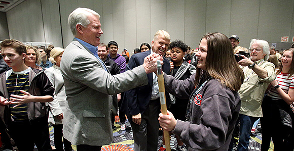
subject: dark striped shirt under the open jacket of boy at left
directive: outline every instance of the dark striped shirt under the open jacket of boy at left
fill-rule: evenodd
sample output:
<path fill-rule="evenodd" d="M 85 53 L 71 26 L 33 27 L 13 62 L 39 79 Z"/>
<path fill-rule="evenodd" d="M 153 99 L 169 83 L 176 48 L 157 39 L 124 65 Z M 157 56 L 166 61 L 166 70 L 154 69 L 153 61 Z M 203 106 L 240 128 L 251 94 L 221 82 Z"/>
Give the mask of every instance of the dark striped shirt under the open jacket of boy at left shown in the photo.
<path fill-rule="evenodd" d="M 29 68 L 30 69 L 30 68 Z M 15 73 L 8 72 L 6 79 L 6 86 L 9 92 L 9 95 L 24 95 L 20 92 L 20 90 L 28 91 L 29 88 L 29 80 L 27 70 L 25 73 Z M 20 105 L 18 107 L 13 108 L 17 104 L 9 105 L 11 110 L 11 116 L 15 120 L 15 122 L 22 122 L 28 119 L 27 116 L 27 104 Z"/>

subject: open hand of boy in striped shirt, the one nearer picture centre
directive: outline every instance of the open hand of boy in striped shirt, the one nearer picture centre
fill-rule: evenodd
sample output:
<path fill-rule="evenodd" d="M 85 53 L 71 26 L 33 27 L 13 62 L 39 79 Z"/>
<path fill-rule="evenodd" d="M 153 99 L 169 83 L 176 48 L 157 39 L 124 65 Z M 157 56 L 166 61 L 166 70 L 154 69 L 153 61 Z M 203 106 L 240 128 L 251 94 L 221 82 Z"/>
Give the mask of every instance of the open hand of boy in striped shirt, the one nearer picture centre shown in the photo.
<path fill-rule="evenodd" d="M 14 108 L 22 104 L 33 102 L 35 100 L 35 96 L 31 95 L 29 92 L 26 92 L 24 90 L 20 90 L 20 92 L 22 92 L 24 95 L 14 95 L 14 94 L 10 95 L 11 96 L 10 104 L 18 104 L 14 106 Z"/>

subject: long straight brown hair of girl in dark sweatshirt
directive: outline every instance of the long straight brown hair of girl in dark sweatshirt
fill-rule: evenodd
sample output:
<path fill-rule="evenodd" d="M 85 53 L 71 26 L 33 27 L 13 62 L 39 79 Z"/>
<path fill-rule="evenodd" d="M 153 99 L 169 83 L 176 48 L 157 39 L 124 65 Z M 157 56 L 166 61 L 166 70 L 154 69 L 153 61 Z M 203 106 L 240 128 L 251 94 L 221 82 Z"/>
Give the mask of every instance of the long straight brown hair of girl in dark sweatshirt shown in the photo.
<path fill-rule="evenodd" d="M 218 79 L 233 91 L 238 91 L 244 80 L 243 70 L 238 66 L 229 38 L 222 33 L 207 33 L 201 40 L 207 40 L 206 71 L 197 67 L 195 84 L 199 84 L 201 74 Z"/>

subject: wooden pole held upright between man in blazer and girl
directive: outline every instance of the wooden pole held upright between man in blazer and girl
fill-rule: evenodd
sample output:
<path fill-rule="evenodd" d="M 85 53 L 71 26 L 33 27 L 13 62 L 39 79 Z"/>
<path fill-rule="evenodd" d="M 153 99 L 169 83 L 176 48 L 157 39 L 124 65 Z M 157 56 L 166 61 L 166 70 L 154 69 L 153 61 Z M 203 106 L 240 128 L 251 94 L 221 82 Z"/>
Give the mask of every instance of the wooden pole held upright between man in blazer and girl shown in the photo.
<path fill-rule="evenodd" d="M 157 77 L 158 77 L 158 87 L 159 87 L 159 97 L 160 97 L 160 106 L 161 113 L 163 115 L 167 115 L 166 109 L 166 99 L 165 99 L 165 88 L 164 88 L 164 78 L 162 73 L 162 66 L 160 61 L 157 61 Z M 165 149 L 166 151 L 170 151 L 170 142 L 169 142 L 169 132 L 167 130 L 163 130 L 164 140 L 165 140 Z"/>

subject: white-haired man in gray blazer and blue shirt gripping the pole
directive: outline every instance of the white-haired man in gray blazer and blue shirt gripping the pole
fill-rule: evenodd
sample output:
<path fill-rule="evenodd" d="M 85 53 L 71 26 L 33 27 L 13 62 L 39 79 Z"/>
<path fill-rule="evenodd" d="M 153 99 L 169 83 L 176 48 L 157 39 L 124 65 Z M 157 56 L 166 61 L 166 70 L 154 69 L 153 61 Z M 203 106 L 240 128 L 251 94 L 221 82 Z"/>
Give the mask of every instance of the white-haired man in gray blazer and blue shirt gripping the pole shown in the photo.
<path fill-rule="evenodd" d="M 78 151 L 100 150 L 113 141 L 111 95 L 148 84 L 146 74 L 157 70 L 160 57 L 152 54 L 142 66 L 112 76 L 97 55 L 103 34 L 99 14 L 78 8 L 69 14 L 68 23 L 75 38 L 65 48 L 60 64 L 68 103 L 64 137 Z"/>

